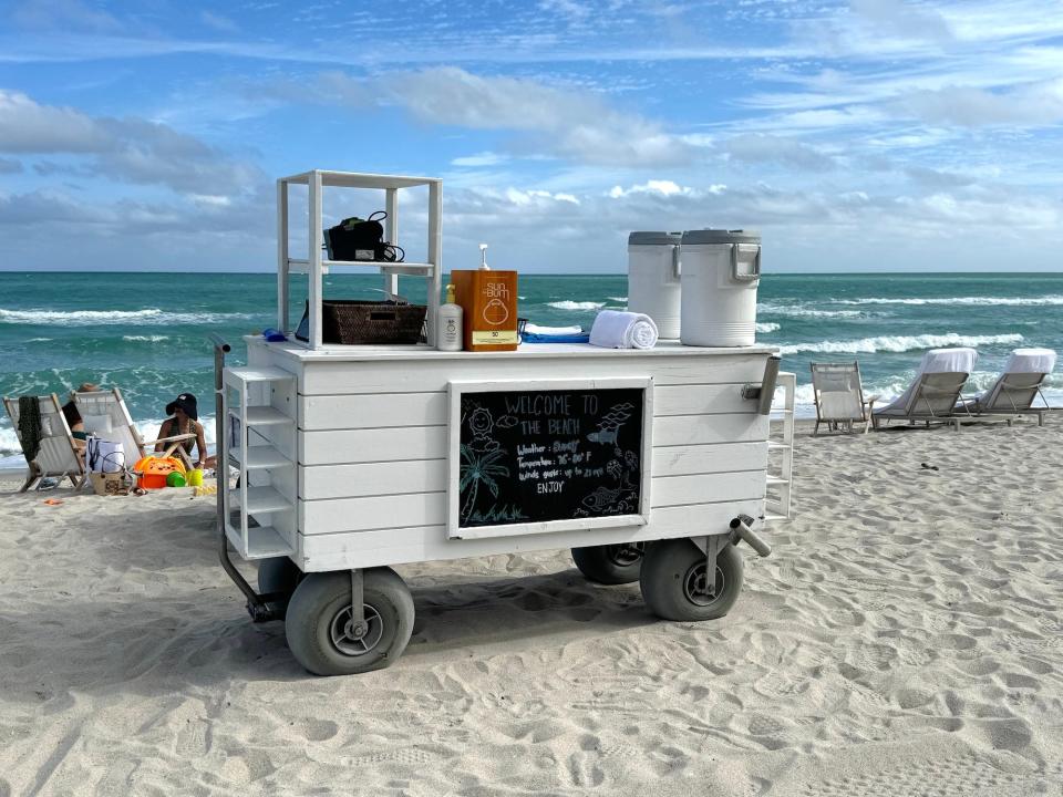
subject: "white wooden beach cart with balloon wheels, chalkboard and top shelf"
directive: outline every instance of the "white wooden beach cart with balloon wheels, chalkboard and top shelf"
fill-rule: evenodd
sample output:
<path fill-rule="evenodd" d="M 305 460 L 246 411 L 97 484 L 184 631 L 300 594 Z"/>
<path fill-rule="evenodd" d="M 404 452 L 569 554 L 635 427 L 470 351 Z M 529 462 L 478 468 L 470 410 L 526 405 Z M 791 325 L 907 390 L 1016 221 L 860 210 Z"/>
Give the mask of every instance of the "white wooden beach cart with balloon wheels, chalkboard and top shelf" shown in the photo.
<path fill-rule="evenodd" d="M 287 190 L 309 186 L 309 252 L 289 258 Z M 772 346 L 647 351 L 581 344 L 516 352 L 326 345 L 320 338 L 321 187 L 431 192 L 429 280 L 438 304 L 438 180 L 311 172 L 279 182 L 278 324 L 288 280 L 310 280 L 308 343 L 247 338 L 247 365 L 216 341 L 221 561 L 256 621 L 285 619 L 313 673 L 386 666 L 409 642 L 413 601 L 391 566 L 570 548 L 602 583 L 639 581 L 671 620 L 726 614 L 742 587 L 735 546 L 789 515 L 793 374 Z M 394 292 L 395 266 L 371 263 Z M 431 329 L 431 325 L 430 325 Z M 776 385 L 785 402 L 774 418 Z M 781 427 L 773 431 L 773 420 Z M 260 560 L 258 591 L 229 546 Z"/>

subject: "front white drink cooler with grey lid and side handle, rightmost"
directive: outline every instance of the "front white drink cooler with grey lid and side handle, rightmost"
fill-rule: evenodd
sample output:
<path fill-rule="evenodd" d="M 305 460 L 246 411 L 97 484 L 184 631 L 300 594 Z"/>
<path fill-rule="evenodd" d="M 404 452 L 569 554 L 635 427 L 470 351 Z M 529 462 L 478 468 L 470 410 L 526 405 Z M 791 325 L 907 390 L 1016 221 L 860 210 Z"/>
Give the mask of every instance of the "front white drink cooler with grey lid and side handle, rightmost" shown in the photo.
<path fill-rule="evenodd" d="M 685 345 L 756 342 L 761 234 L 688 230 L 682 238 L 682 329 Z M 662 335 L 663 337 L 663 335 Z"/>

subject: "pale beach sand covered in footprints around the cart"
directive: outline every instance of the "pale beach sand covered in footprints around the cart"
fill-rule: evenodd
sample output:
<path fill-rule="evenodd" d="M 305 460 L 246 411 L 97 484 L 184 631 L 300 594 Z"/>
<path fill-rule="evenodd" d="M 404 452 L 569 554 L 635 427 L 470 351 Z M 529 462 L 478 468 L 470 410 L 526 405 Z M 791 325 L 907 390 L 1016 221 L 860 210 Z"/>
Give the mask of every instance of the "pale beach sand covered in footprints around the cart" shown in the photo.
<path fill-rule="evenodd" d="M 725 619 L 567 551 L 407 566 L 405 654 L 337 679 L 250 622 L 213 498 L 6 484 L 0 796 L 1063 795 L 1061 418 L 807 432 Z"/>

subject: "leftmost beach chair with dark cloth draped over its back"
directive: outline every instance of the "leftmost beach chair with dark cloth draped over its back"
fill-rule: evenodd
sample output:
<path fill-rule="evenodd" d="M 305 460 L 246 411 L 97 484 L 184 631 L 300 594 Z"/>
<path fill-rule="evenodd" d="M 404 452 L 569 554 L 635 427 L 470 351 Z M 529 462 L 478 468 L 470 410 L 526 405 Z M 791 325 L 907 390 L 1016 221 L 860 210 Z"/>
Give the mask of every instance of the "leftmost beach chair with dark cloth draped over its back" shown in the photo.
<path fill-rule="evenodd" d="M 35 411 L 40 415 L 40 424 L 34 429 L 22 427 L 19 421 L 22 418 L 22 411 L 34 410 L 31 402 L 37 402 Z M 62 405 L 59 403 L 59 396 L 54 393 L 44 396 L 22 396 L 21 398 L 3 397 L 3 406 L 8 411 L 8 416 L 14 425 L 14 432 L 18 435 L 19 444 L 22 446 L 22 453 L 29 464 L 30 473 L 25 482 L 19 488 L 19 493 L 25 493 L 30 487 L 40 488 L 41 482 L 45 478 L 58 477 L 60 483 L 69 478 L 75 490 L 85 486 L 85 466 L 81 456 L 78 455 L 78 446 L 74 443 L 74 436 L 70 433 L 70 426 L 63 416 Z M 24 418 L 29 421 L 29 418 Z M 35 451 L 34 451 L 35 449 Z"/>

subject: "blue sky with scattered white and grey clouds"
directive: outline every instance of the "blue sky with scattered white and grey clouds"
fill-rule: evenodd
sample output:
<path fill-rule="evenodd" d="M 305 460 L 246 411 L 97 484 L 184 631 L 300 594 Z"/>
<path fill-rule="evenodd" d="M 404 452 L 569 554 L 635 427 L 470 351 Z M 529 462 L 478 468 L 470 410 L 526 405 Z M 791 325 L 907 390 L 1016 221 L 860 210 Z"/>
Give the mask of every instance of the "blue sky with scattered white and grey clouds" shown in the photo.
<path fill-rule="evenodd" d="M 447 270 L 1059 270 L 1061 123 L 1059 0 L 0 0 L 0 270 L 274 270 L 312 168 L 441 177 Z"/>

